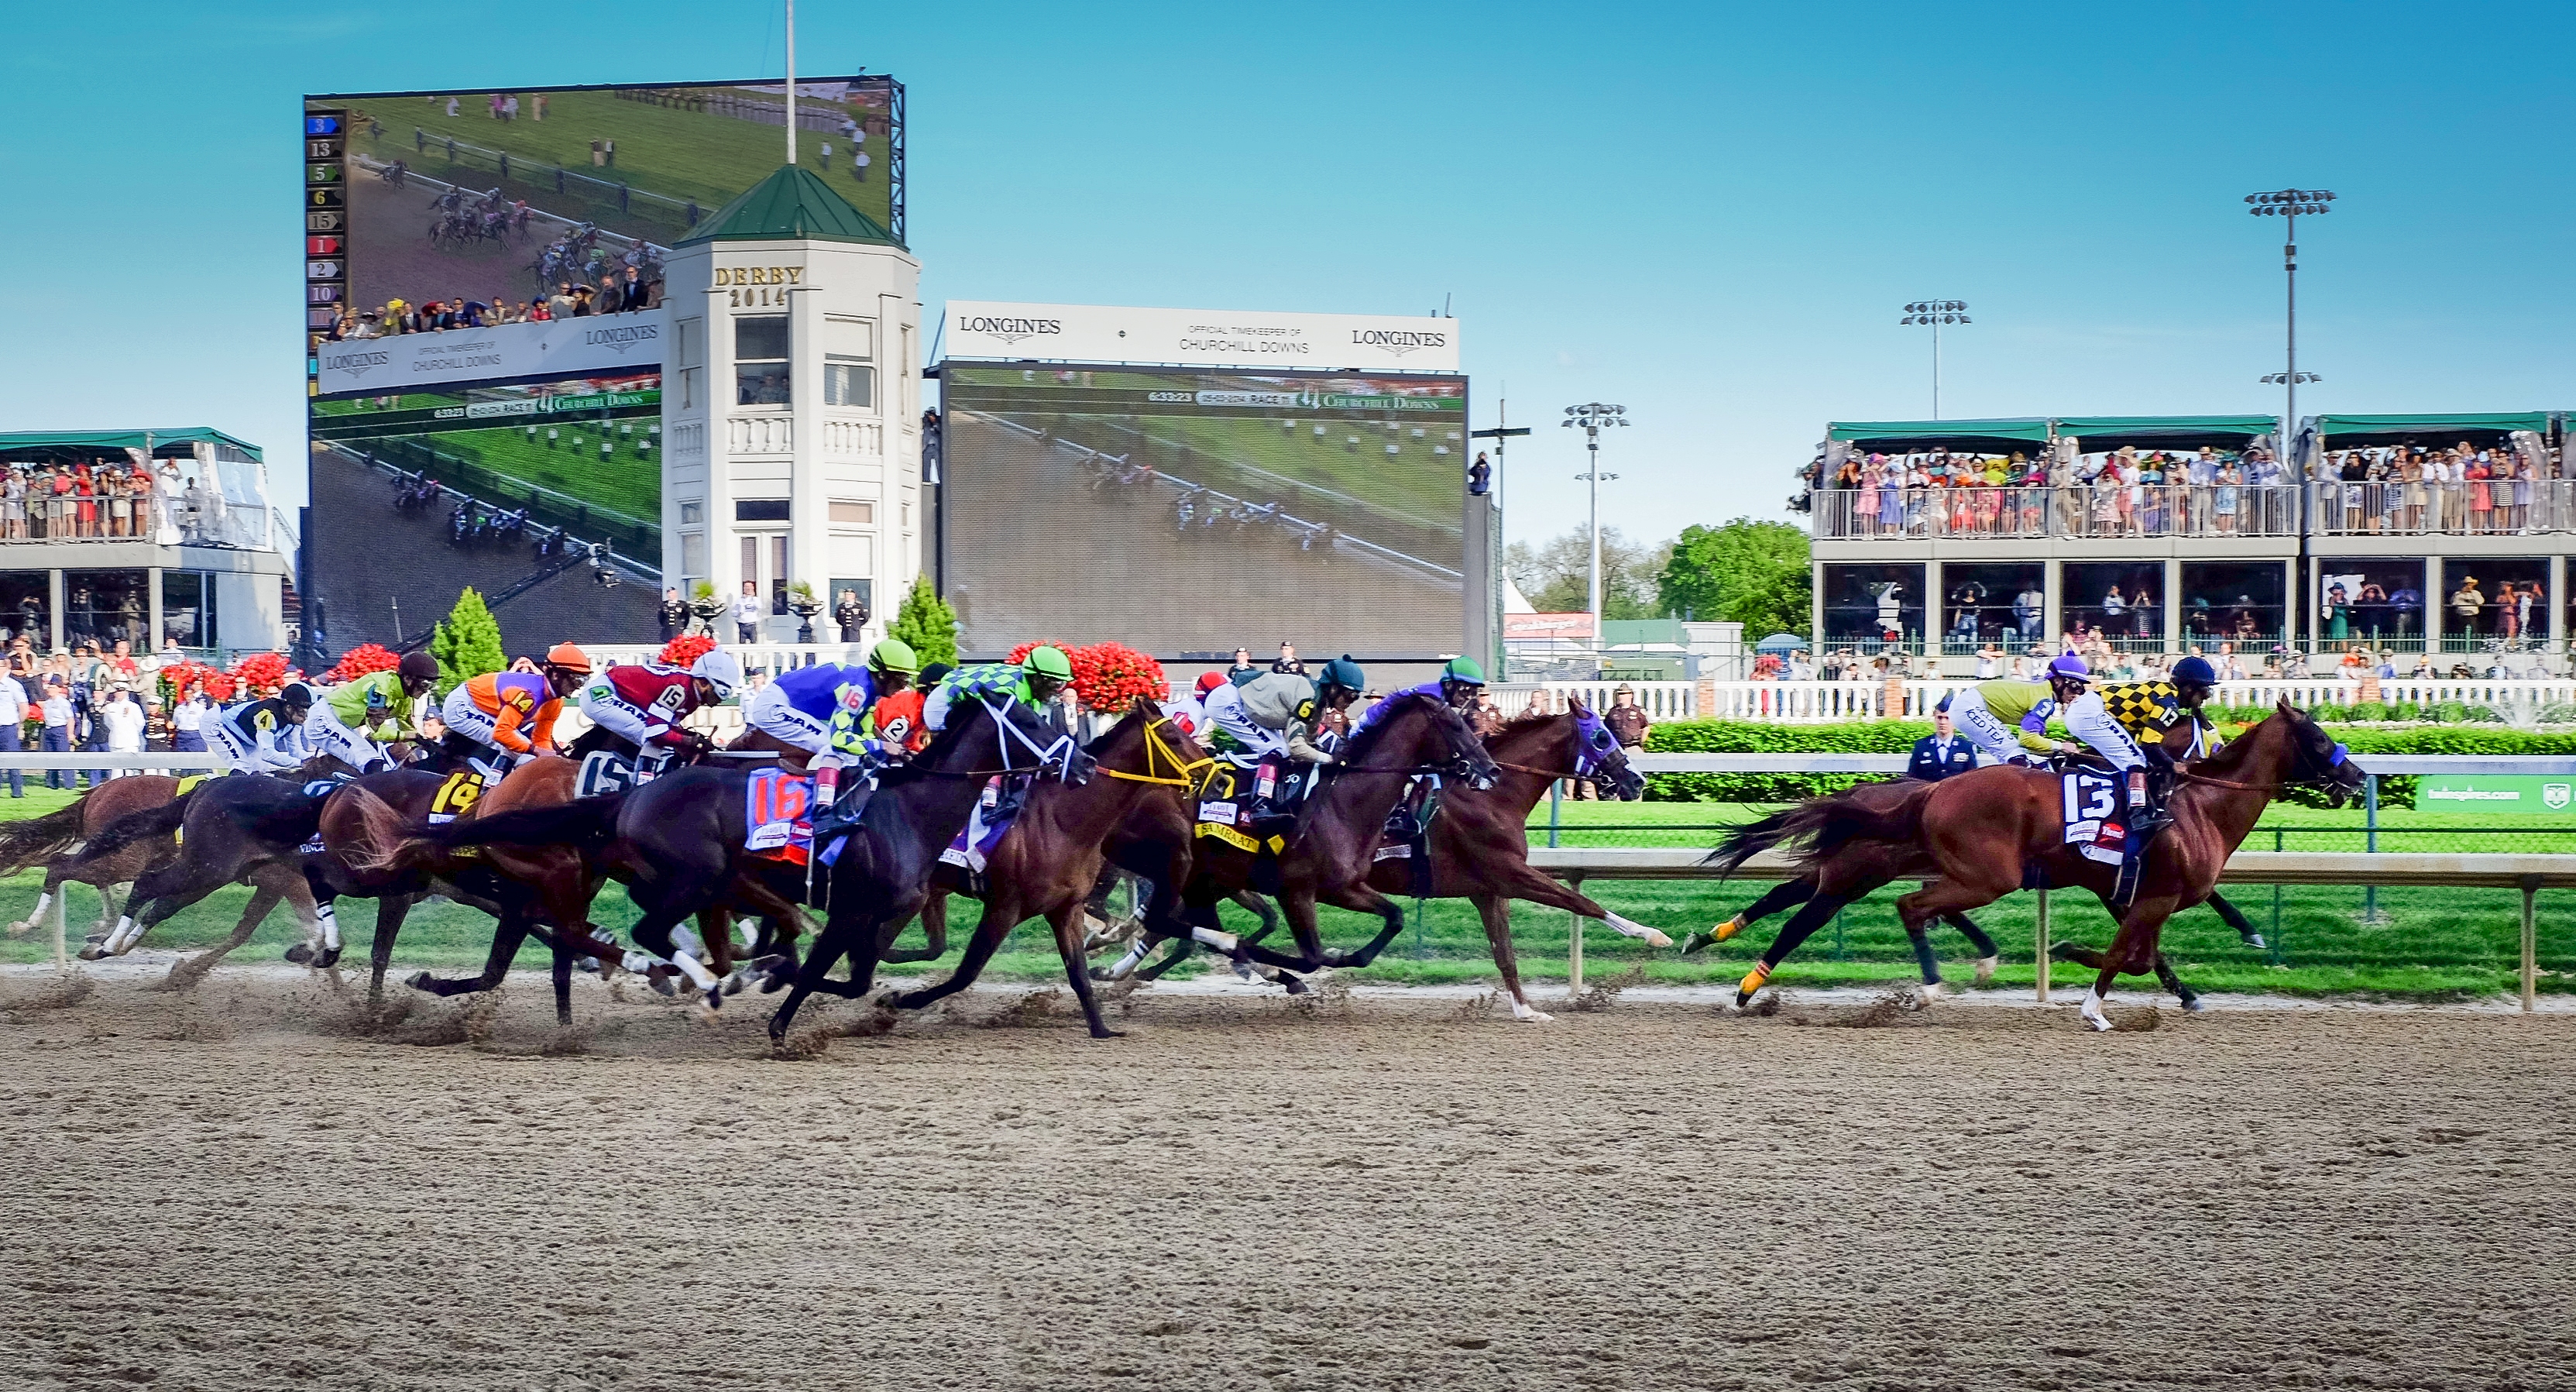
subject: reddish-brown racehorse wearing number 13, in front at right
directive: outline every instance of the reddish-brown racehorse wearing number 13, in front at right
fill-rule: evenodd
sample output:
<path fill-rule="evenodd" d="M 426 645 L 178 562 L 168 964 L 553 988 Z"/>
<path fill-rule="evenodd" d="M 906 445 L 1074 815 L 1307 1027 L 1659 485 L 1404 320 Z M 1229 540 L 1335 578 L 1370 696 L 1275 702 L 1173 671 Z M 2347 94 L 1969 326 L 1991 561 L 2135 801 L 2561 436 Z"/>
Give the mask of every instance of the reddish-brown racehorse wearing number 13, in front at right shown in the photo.
<path fill-rule="evenodd" d="M 2117 866 L 2105 866 L 2063 843 L 2058 778 L 2032 768 L 1976 768 L 1940 784 L 1899 794 L 1847 789 L 1814 797 L 1726 838 L 1708 864 L 1736 869 L 1759 851 L 1803 843 L 1801 871 L 1816 874 L 1816 894 L 1780 928 L 1780 936 L 1736 990 L 1736 1005 L 1777 964 L 1860 892 L 1886 884 L 1886 846 L 1919 848 L 1932 879 L 1896 900 L 1909 933 L 1945 913 L 1965 913 L 2014 892 L 2027 869 L 2053 887 L 2092 889 L 2120 923 L 2094 987 L 2084 992 L 2084 1023 L 2110 1029 L 2102 998 L 2123 972 L 2146 974 L 2159 954 L 2164 920 L 2210 897 L 2218 871 L 2254 830 L 2264 804 L 2290 784 L 2324 786 L 2334 804 L 2357 794 L 2362 771 L 2306 711 L 2287 701 L 2239 735 L 2228 748 L 2177 773 L 2166 809 L 2172 825 L 2146 848 L 2130 905 L 2115 905 Z M 1865 784 L 1870 786 L 1870 784 Z M 1886 789 L 1886 784 L 1875 784 Z M 1909 869 L 1914 869 L 1909 864 Z M 1919 871 L 1917 871 L 1919 874 Z"/>

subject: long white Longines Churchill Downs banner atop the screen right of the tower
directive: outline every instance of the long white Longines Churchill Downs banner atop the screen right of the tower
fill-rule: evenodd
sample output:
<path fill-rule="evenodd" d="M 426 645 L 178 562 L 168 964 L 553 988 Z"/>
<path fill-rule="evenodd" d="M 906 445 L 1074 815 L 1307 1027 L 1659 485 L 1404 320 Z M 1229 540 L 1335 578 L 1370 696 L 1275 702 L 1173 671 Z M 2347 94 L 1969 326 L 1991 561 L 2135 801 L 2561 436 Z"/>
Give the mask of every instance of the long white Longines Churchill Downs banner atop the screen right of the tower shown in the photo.
<path fill-rule="evenodd" d="M 948 302 L 951 358 L 1458 371 L 1458 320 Z"/>

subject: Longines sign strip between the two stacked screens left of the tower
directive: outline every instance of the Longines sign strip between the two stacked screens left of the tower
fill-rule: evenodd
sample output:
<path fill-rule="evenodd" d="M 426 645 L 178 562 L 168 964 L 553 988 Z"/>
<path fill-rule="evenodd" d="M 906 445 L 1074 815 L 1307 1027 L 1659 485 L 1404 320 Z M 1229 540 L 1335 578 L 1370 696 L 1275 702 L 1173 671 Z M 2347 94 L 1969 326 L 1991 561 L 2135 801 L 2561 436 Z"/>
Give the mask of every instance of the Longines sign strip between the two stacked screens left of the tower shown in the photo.
<path fill-rule="evenodd" d="M 585 376 L 662 366 L 662 312 L 587 314 L 487 330 L 353 338 L 319 348 L 322 397 L 410 392 L 495 376 Z"/>

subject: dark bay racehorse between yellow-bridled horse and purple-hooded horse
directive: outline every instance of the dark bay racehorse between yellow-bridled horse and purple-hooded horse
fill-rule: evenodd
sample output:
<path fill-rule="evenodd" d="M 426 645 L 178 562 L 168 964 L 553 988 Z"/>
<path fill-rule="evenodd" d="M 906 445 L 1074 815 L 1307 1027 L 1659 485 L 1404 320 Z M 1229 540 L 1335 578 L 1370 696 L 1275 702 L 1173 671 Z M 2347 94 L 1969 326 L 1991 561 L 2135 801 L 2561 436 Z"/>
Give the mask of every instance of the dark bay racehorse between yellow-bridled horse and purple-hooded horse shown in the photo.
<path fill-rule="evenodd" d="M 1430 693 L 1404 696 L 1378 722 L 1350 737 L 1337 763 L 1298 804 L 1296 827 L 1283 835 L 1280 851 L 1257 853 L 1224 838 L 1200 838 L 1190 853 L 1190 882 L 1182 889 L 1180 918 L 1198 941 L 1267 967 L 1291 972 L 1368 967 L 1404 931 L 1404 910 L 1373 889 L 1368 876 L 1376 869 L 1378 833 L 1386 830 L 1386 817 L 1417 773 L 1445 773 L 1471 789 L 1492 789 L 1502 768 L 1445 701 Z M 1195 827 L 1188 827 L 1182 835 L 1193 833 Z M 1110 843 L 1110 861 L 1146 876 L 1164 856 L 1162 846 L 1136 835 L 1121 835 Z M 1247 887 L 1275 892 L 1280 913 L 1296 933 L 1296 956 L 1242 943 L 1218 928 L 1218 900 Z M 1381 920 L 1378 936 L 1360 951 L 1324 951 L 1316 905 L 1373 913 Z M 1177 923 L 1154 923 L 1154 918 L 1149 915 L 1141 946 L 1177 936 Z"/>

